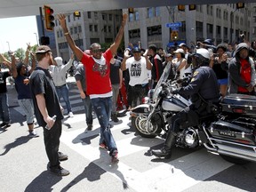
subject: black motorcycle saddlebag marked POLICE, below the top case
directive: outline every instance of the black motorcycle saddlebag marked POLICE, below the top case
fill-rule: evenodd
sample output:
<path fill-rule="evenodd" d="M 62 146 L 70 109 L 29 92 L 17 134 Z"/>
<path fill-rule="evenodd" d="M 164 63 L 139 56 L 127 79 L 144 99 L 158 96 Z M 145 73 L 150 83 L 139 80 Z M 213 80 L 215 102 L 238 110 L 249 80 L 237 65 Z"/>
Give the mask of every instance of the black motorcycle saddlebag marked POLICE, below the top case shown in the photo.
<path fill-rule="evenodd" d="M 232 124 L 223 120 L 213 122 L 208 128 L 212 138 L 220 140 L 229 140 L 238 143 L 255 145 L 255 132 L 253 129 L 245 128 L 238 124 Z"/>

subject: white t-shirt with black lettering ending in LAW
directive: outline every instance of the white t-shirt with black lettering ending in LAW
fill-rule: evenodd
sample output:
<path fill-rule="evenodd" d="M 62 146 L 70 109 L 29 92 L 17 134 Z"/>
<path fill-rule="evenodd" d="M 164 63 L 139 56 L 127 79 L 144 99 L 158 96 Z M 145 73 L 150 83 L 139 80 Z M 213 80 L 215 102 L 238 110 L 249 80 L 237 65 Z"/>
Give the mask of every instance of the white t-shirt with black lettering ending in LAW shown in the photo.
<path fill-rule="evenodd" d="M 144 57 L 140 60 L 134 60 L 134 57 L 129 58 L 125 62 L 126 68 L 129 69 L 130 81 L 129 84 L 148 84 L 148 69 L 147 62 Z"/>

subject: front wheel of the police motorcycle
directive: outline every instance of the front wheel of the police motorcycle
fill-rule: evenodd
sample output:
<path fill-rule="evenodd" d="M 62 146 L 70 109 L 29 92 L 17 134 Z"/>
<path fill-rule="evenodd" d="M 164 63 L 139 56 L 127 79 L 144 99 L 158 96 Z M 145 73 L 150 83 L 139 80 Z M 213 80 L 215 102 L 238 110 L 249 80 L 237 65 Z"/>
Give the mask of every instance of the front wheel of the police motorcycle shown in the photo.
<path fill-rule="evenodd" d="M 159 124 L 151 124 L 149 121 L 150 132 L 147 132 L 147 118 L 148 116 L 132 116 L 132 127 L 135 129 L 141 137 L 143 138 L 155 138 L 162 132 L 161 126 Z"/>

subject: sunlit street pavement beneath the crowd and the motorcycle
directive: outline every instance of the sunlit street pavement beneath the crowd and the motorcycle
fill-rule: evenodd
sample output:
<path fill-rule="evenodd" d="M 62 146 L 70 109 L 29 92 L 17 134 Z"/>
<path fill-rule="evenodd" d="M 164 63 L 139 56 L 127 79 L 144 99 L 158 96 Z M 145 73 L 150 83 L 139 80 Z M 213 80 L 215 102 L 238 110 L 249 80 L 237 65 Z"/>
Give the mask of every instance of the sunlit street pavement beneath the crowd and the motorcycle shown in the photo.
<path fill-rule="evenodd" d="M 65 115 L 63 120 L 60 151 L 68 154 L 68 160 L 61 165 L 70 175 L 62 178 L 46 170 L 43 130 L 36 127 L 40 137 L 28 137 L 15 90 L 8 86 L 12 126 L 0 129 L 0 191 L 256 191 L 255 163 L 230 164 L 204 148 L 174 148 L 170 161 L 160 161 L 150 149 L 159 148 L 164 140 L 136 135 L 129 113 L 124 113 L 119 123 L 111 122 L 120 158 L 118 164 L 111 164 L 108 152 L 99 148 L 96 118 L 92 131 L 84 132 L 84 109 L 74 77 L 68 77 L 68 86 L 75 116 Z M 62 100 L 61 104 L 65 108 Z"/>

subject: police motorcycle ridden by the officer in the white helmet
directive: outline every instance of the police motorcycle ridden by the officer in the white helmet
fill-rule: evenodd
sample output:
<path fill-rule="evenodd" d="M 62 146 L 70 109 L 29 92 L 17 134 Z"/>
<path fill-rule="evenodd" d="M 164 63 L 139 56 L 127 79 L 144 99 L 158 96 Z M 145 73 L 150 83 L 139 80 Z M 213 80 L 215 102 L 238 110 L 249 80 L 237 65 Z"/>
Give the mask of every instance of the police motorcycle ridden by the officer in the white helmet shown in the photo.
<path fill-rule="evenodd" d="M 140 111 L 136 110 L 138 116 L 132 116 L 135 128 L 138 131 L 141 127 L 144 129 L 140 133 L 142 137 L 153 138 L 163 130 L 167 132 L 167 118 L 172 118 L 172 115 L 189 105 L 188 100 L 182 99 L 180 95 L 164 92 L 166 87 L 169 92 L 175 89 L 168 81 L 163 84 L 164 79 L 166 76 L 163 75 L 163 79 L 161 76 L 162 83 L 156 85 L 150 103 L 143 104 L 144 108 L 140 105 Z M 180 129 L 175 145 L 181 148 L 204 146 L 208 152 L 218 154 L 233 164 L 256 162 L 256 97 L 229 94 L 220 101 L 220 105 L 209 106 L 214 113 L 204 116 L 196 126 Z"/>

